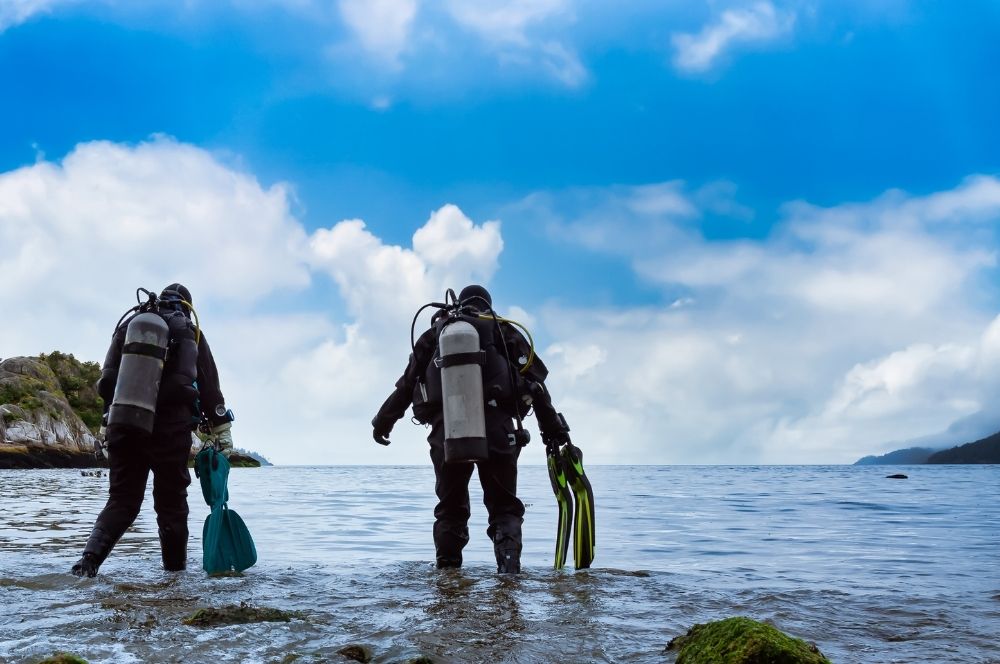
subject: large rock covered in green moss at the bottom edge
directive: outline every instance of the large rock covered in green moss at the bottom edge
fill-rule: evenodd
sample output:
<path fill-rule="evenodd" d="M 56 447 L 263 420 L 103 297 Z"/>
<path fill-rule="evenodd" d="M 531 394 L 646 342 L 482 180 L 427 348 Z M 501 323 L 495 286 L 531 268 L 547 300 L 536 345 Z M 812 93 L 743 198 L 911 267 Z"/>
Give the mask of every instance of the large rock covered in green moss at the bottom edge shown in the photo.
<path fill-rule="evenodd" d="M 666 650 L 677 664 L 830 664 L 815 645 L 743 617 L 695 625 Z"/>

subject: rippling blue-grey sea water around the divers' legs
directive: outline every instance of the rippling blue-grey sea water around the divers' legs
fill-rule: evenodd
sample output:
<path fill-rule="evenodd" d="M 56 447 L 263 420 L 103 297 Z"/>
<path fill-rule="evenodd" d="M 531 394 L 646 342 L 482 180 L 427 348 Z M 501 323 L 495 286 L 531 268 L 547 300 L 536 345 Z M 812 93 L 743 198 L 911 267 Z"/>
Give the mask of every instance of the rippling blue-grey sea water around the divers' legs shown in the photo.
<path fill-rule="evenodd" d="M 905 480 L 887 479 L 902 472 Z M 230 506 L 258 564 L 200 569 L 208 513 L 191 487 L 189 569 L 163 572 L 147 496 L 96 579 L 68 573 L 107 477 L 0 471 L 0 661 L 672 662 L 691 625 L 734 615 L 838 663 L 1000 663 L 1000 466 L 592 466 L 597 558 L 551 569 L 555 501 L 522 465 L 525 573 L 495 573 L 481 491 L 460 571 L 434 569 L 433 471 L 234 470 Z M 196 628 L 204 606 L 301 611 Z"/>

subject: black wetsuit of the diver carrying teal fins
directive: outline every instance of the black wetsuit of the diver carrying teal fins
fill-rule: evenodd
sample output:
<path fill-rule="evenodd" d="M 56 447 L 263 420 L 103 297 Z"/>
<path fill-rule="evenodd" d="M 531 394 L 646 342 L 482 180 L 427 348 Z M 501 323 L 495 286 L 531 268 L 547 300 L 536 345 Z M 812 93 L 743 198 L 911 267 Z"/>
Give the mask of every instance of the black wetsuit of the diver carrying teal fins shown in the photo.
<path fill-rule="evenodd" d="M 125 328 L 123 324 L 115 334 L 97 383 L 105 413 L 114 397 Z M 168 357 L 164 381 L 171 369 Z M 216 406 L 224 405 L 225 400 L 219 389 L 215 359 L 204 335 L 198 343 L 197 369 L 197 399 L 193 402 L 171 400 L 161 389 L 152 434 L 133 427 L 108 427 L 109 497 L 84 549 L 84 554 L 91 554 L 98 565 L 107 558 L 118 539 L 139 515 L 146 482 L 152 471 L 153 509 L 159 527 L 163 567 L 167 570 L 184 569 L 188 540 L 187 487 L 191 484 L 187 466 L 191 432 L 203 417 L 207 417 L 211 424 L 221 424 L 228 419 L 216 415 Z"/>

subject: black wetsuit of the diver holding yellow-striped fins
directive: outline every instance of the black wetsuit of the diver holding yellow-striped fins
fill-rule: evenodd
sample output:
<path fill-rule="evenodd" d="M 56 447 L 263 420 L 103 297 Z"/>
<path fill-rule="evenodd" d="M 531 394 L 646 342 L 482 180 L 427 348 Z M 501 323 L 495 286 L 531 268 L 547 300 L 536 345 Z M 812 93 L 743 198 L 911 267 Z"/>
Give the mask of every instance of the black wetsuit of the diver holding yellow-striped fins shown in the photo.
<path fill-rule="evenodd" d="M 527 357 L 528 343 L 513 327 L 503 325 L 503 337 L 513 363 Z M 385 400 L 372 421 L 376 431 L 388 435 L 393 425 L 414 401 L 418 383 L 428 373 L 437 350 L 437 330 L 428 329 L 416 342 L 406 371 L 396 381 L 396 389 Z M 532 373 L 536 380 L 544 380 L 545 367 L 535 359 Z M 419 395 L 419 392 L 417 393 Z M 419 399 L 419 396 L 417 397 Z M 483 504 L 489 514 L 486 534 L 493 541 L 500 571 L 519 571 L 521 554 L 521 524 L 524 521 L 524 503 L 517 497 L 517 459 L 521 447 L 514 442 L 515 430 L 512 407 L 486 404 L 486 439 L 489 459 L 477 461 L 479 482 L 483 487 Z M 469 480 L 473 464 L 445 463 L 444 416 L 440 403 L 430 408 L 414 407 L 414 413 L 431 425 L 427 441 L 430 443 L 431 461 L 434 464 L 438 504 L 434 508 L 434 546 L 438 567 L 458 567 L 462 564 L 462 549 L 469 542 Z M 428 404 L 424 404 L 428 406 Z"/>

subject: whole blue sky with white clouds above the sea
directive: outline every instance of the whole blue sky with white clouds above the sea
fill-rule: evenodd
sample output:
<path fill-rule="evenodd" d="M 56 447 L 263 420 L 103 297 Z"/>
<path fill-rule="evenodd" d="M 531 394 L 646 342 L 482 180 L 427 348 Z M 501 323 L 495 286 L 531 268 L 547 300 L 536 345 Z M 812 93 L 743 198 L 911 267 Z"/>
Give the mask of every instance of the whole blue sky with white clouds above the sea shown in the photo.
<path fill-rule="evenodd" d="M 99 362 L 179 281 L 237 446 L 426 463 L 370 421 L 480 283 L 589 463 L 975 440 L 998 34 L 993 0 L 0 0 L 0 356 Z"/>

